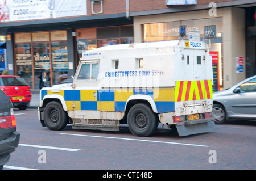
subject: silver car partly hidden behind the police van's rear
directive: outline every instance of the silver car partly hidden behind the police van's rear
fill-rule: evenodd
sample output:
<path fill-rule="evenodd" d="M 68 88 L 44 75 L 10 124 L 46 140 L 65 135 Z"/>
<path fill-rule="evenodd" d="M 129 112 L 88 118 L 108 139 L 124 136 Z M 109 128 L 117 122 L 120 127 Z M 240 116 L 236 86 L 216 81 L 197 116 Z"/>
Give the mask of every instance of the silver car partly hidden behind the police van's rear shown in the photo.
<path fill-rule="evenodd" d="M 213 119 L 216 124 L 229 119 L 256 120 L 256 75 L 213 93 Z"/>

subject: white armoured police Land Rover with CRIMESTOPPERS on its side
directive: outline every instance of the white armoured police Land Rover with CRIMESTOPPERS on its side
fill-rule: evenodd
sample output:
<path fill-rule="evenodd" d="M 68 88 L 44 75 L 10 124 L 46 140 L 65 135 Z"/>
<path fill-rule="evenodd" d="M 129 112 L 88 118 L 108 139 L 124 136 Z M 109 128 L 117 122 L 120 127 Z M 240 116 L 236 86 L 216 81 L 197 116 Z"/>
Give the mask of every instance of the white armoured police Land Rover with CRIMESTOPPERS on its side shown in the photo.
<path fill-rule="evenodd" d="M 109 45 L 82 54 L 73 83 L 40 91 L 39 120 L 49 129 L 151 136 L 159 123 L 179 136 L 215 129 L 212 59 L 205 42 L 170 40 Z M 43 113 L 43 114 L 42 114 Z"/>

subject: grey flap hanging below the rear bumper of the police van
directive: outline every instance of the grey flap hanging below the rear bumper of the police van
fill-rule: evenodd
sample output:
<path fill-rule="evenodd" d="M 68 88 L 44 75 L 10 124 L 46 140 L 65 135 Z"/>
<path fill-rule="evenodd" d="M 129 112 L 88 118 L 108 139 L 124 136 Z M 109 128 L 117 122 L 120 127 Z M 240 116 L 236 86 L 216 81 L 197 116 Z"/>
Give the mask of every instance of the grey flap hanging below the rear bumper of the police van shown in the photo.
<path fill-rule="evenodd" d="M 177 123 L 176 128 L 179 136 L 188 136 L 213 131 L 216 129 L 216 125 L 213 120 L 201 119 Z"/>

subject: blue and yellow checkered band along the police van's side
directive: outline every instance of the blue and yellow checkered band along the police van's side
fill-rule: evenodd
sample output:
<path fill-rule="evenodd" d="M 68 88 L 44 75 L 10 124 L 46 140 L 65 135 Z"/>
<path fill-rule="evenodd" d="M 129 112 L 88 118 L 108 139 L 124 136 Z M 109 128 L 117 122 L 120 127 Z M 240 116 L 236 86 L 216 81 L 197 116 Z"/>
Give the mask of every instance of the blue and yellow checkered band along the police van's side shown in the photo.
<path fill-rule="evenodd" d="M 47 94 L 63 96 L 67 110 L 125 111 L 131 95 L 149 95 L 156 104 L 158 113 L 174 111 L 174 89 L 107 89 L 107 90 L 51 90 L 41 91 L 41 100 Z M 75 103 L 75 107 L 72 104 Z"/>

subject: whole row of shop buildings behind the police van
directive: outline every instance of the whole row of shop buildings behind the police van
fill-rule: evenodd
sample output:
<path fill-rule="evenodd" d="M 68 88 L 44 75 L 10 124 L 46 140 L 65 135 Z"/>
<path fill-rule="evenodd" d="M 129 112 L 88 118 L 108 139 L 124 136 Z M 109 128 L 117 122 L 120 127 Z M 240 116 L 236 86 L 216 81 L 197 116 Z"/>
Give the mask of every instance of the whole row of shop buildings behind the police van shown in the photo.
<path fill-rule="evenodd" d="M 0 1 L 5 69 L 25 78 L 32 90 L 42 88 L 44 71 L 50 85 L 74 75 L 83 50 L 179 39 L 180 25 L 187 26 L 187 39 L 200 31 L 201 40 L 204 26 L 216 25 L 210 48 L 215 91 L 256 74 L 253 0 L 34 1 Z"/>

